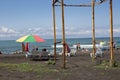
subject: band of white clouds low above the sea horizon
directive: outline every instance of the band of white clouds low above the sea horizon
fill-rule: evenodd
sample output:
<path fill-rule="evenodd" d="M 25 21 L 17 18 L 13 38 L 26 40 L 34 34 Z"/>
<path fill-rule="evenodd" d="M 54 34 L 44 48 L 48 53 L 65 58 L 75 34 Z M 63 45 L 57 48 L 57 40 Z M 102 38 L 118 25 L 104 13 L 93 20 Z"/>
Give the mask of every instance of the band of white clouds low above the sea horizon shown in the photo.
<path fill-rule="evenodd" d="M 115 27 L 113 29 L 113 33 L 115 36 L 119 36 L 120 28 Z M 7 38 L 10 39 L 17 39 L 21 36 L 28 35 L 28 34 L 36 34 L 43 38 L 53 38 L 53 28 L 48 27 L 34 27 L 28 29 L 21 29 L 21 30 L 14 30 L 7 27 L 0 27 L 0 39 Z M 96 28 L 95 29 L 95 36 L 96 37 L 108 37 L 110 34 L 109 28 Z M 56 28 L 56 35 L 57 38 L 62 38 L 62 28 Z M 65 27 L 65 35 L 66 38 L 75 38 L 75 37 L 91 37 L 92 36 L 92 29 L 91 27 Z"/>

